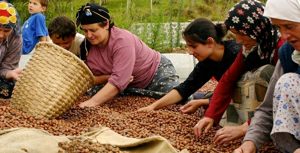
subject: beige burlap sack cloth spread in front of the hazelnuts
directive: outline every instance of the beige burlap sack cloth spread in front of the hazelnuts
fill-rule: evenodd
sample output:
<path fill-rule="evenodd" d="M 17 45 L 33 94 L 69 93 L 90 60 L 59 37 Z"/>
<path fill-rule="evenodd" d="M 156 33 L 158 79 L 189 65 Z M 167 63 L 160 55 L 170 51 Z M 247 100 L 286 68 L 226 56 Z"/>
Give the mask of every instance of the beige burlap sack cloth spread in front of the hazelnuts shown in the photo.
<path fill-rule="evenodd" d="M 75 139 L 81 141 L 92 139 L 93 142 L 119 147 L 121 151 L 132 153 L 177 153 L 178 151 L 161 136 L 150 136 L 144 139 L 135 139 L 121 136 L 108 127 L 95 128 L 92 132 L 81 136 L 53 136 L 45 130 L 12 128 L 0 131 L 0 152 L 24 153 L 25 148 L 29 153 L 57 153 L 58 142 L 71 142 Z M 188 153 L 186 149 L 180 153 Z"/>

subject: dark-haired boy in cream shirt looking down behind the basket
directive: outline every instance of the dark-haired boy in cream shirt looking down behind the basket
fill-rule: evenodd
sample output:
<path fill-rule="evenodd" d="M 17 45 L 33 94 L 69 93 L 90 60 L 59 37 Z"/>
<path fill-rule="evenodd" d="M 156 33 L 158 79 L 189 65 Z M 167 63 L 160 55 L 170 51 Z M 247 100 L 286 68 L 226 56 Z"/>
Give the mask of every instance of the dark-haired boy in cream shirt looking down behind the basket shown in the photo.
<path fill-rule="evenodd" d="M 61 46 L 80 58 L 80 44 L 85 36 L 76 32 L 75 23 L 66 16 L 55 17 L 48 26 L 50 42 Z"/>

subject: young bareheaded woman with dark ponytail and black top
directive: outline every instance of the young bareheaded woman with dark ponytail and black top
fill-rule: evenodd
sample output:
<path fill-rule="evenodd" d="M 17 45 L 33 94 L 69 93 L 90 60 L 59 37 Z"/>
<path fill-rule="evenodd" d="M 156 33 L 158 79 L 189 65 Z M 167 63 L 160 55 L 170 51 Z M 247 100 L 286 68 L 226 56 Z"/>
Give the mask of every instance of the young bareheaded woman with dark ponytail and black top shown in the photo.
<path fill-rule="evenodd" d="M 174 87 L 167 95 L 142 110 L 157 110 L 169 105 L 185 101 L 212 77 L 217 81 L 230 67 L 238 55 L 242 45 L 236 40 L 222 41 L 227 35 L 227 29 L 222 24 L 214 24 L 208 19 L 193 20 L 183 31 L 182 36 L 189 46 L 189 54 L 199 62 L 189 77 L 180 85 Z M 181 108 L 183 113 L 194 113 L 200 106 L 208 106 L 209 99 L 202 99 L 204 94 L 196 92 L 194 99 Z"/>

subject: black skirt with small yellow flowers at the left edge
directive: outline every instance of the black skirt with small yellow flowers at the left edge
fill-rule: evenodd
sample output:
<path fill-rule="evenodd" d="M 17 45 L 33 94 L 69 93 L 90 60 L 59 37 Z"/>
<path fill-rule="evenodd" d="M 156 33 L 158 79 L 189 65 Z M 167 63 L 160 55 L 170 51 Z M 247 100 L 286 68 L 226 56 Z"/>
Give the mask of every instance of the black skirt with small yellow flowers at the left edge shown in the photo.
<path fill-rule="evenodd" d="M 14 89 L 16 80 L 4 80 L 0 79 L 0 98 L 8 99 L 11 98 L 11 93 Z"/>

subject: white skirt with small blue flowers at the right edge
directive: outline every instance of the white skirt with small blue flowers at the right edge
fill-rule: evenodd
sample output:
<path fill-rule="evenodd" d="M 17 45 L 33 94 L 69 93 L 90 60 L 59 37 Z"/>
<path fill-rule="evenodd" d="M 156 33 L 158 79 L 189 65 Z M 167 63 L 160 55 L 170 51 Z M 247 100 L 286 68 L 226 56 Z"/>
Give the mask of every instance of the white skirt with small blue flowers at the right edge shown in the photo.
<path fill-rule="evenodd" d="M 271 138 L 281 152 L 300 148 L 300 75 L 286 73 L 275 86 Z"/>

